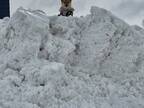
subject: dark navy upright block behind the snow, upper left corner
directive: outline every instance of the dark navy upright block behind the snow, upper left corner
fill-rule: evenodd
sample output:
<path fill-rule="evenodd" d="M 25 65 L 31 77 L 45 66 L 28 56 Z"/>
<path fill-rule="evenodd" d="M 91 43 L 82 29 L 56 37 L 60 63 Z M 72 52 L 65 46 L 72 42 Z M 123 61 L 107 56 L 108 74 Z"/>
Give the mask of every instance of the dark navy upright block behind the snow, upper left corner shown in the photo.
<path fill-rule="evenodd" d="M 9 0 L 0 0 L 0 19 L 10 16 Z"/>

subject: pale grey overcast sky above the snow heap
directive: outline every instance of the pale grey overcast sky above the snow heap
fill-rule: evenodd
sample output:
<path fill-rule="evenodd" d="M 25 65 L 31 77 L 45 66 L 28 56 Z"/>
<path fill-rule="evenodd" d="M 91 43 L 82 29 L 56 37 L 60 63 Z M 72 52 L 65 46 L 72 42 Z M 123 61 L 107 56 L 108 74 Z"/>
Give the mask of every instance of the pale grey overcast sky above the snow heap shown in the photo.
<path fill-rule="evenodd" d="M 94 5 L 110 10 L 131 25 L 141 26 L 144 19 L 144 0 L 73 0 L 76 16 L 88 14 Z M 48 15 L 57 15 L 60 0 L 11 0 L 11 13 L 20 6 L 42 9 Z"/>

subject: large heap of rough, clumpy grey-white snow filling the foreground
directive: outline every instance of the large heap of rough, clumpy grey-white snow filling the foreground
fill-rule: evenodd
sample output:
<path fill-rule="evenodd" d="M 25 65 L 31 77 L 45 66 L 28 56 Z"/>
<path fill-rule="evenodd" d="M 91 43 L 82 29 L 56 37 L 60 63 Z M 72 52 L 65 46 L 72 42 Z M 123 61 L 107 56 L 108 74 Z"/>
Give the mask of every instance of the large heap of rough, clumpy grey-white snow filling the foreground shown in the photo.
<path fill-rule="evenodd" d="M 0 108 L 144 108 L 144 30 L 90 12 L 0 20 Z"/>

